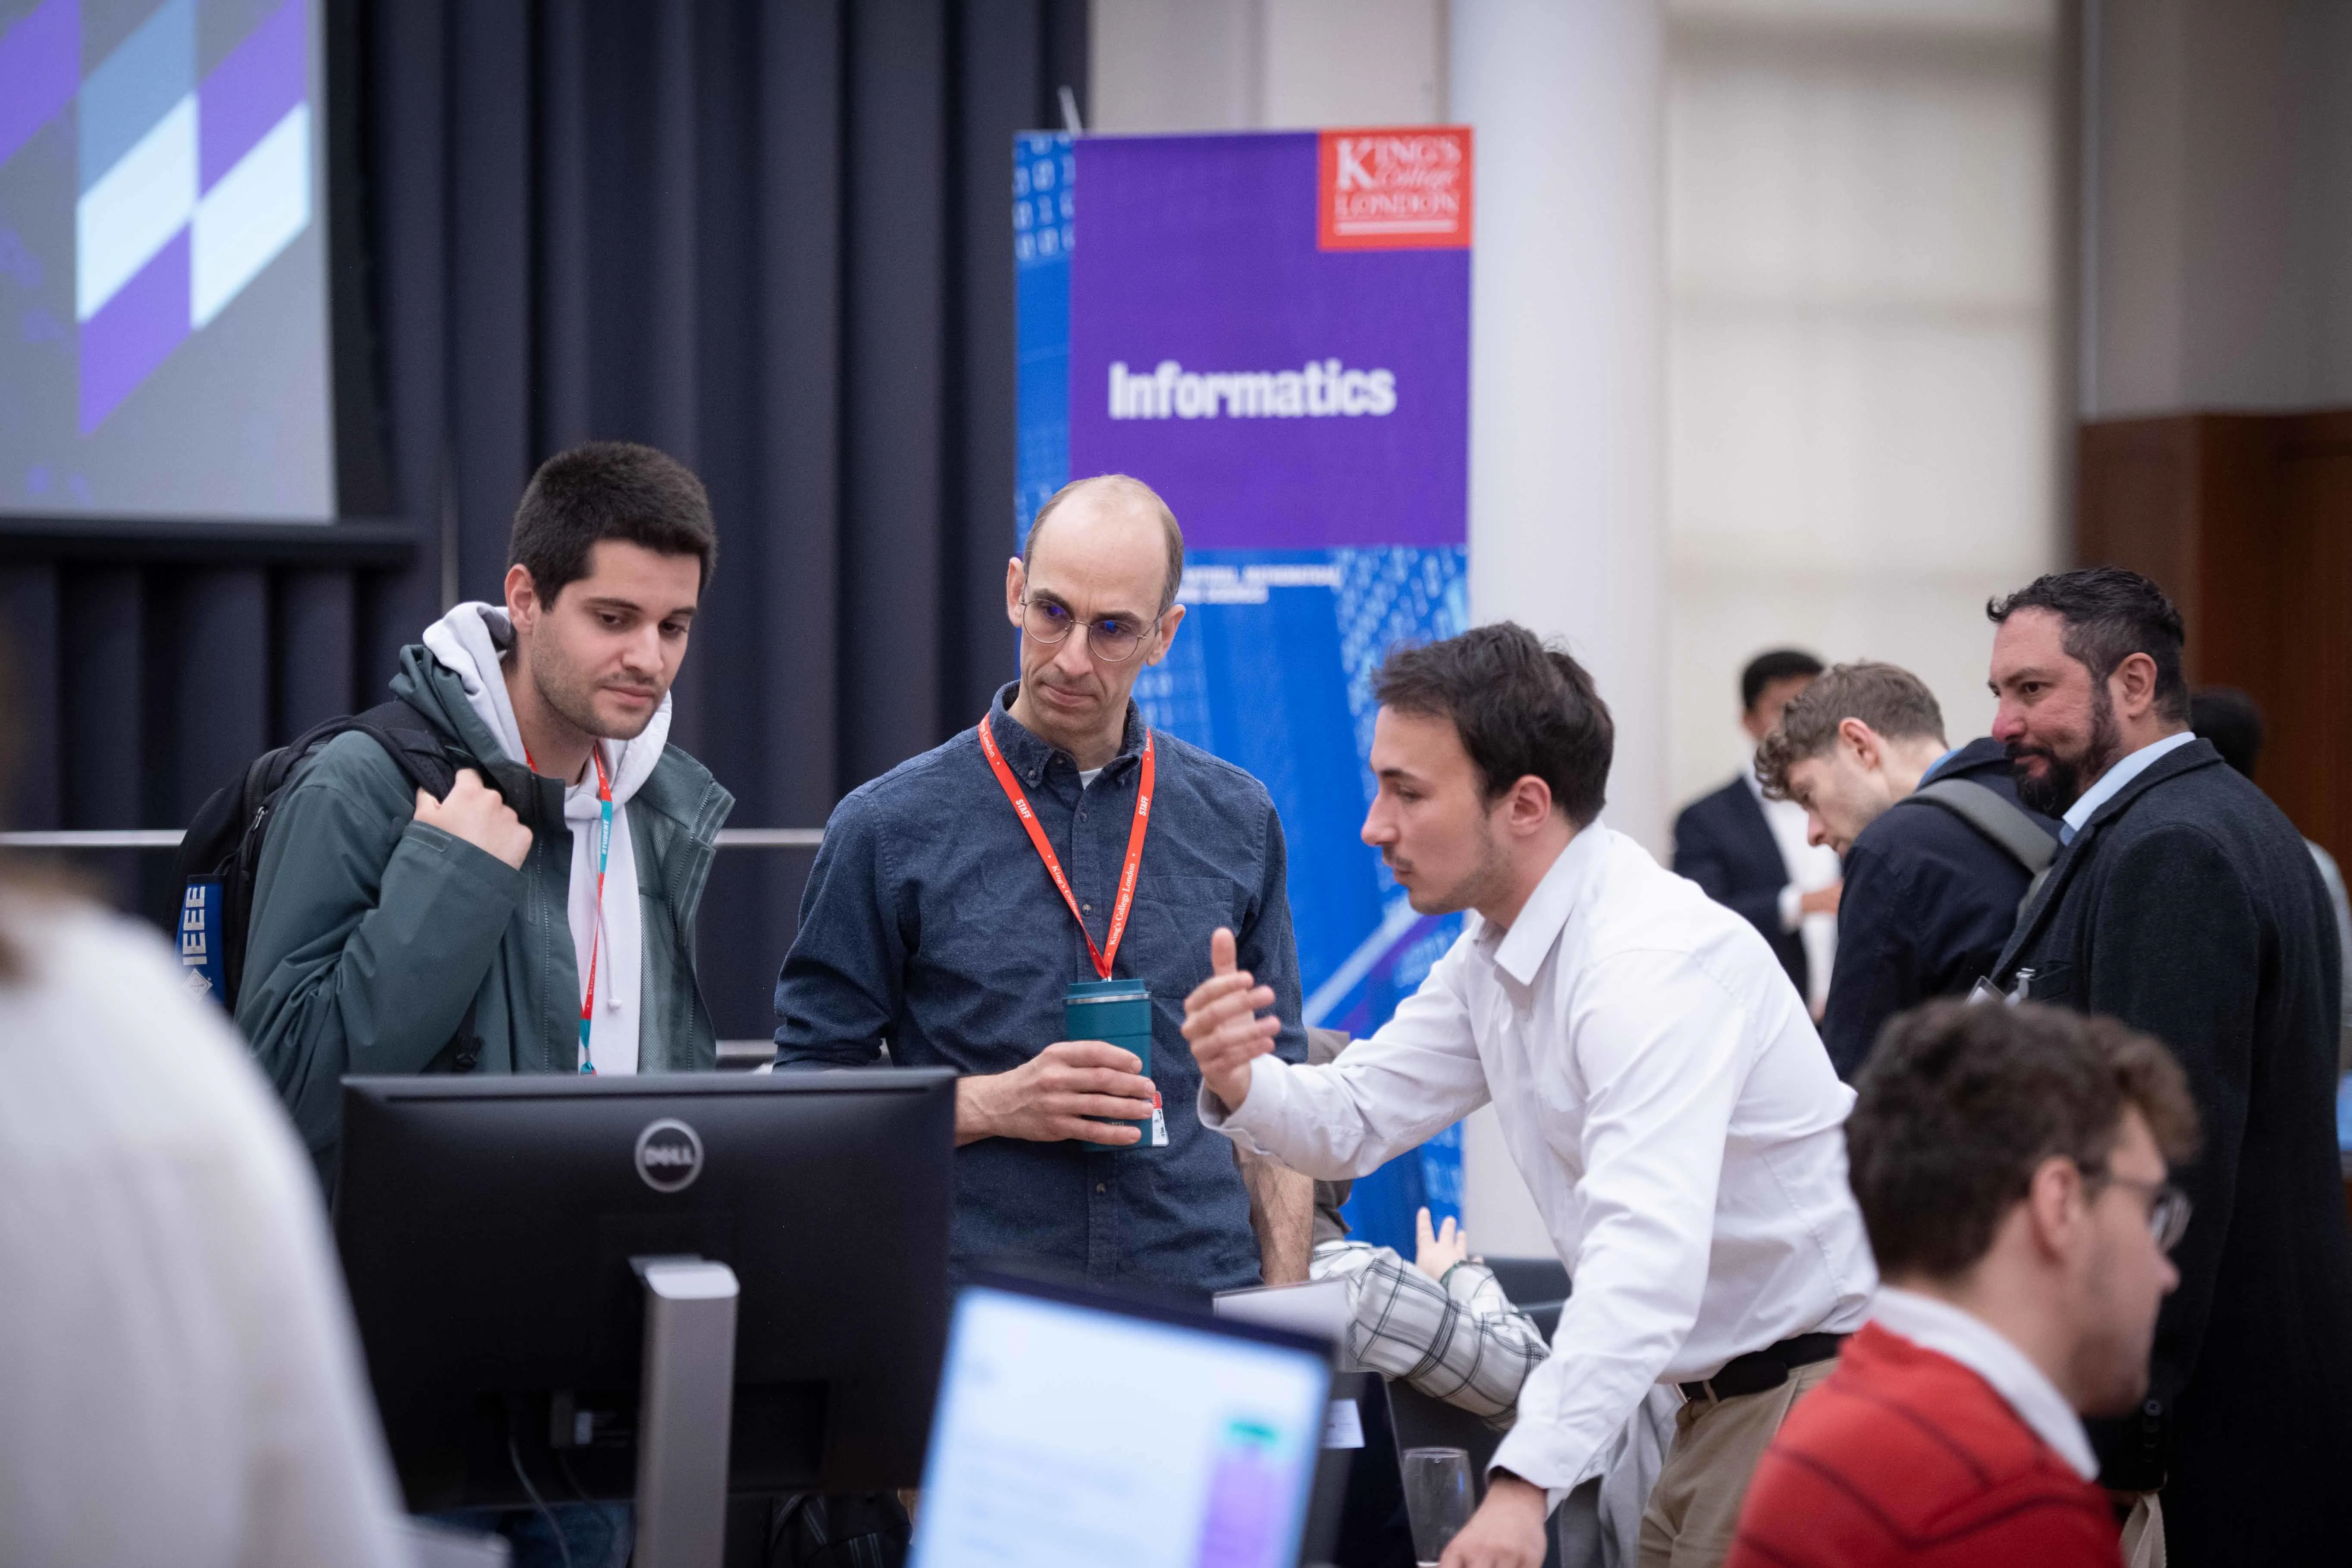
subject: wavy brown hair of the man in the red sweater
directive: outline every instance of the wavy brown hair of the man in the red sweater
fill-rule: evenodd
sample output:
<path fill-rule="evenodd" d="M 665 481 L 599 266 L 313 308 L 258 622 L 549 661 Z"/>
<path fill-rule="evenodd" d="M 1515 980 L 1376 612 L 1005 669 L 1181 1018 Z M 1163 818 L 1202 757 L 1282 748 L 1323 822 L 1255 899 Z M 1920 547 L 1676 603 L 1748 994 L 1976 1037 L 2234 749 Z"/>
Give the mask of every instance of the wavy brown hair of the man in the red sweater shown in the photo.
<path fill-rule="evenodd" d="M 2105 1173 L 2126 1107 L 2169 1161 L 2197 1152 L 2197 1105 L 2164 1046 L 2053 1006 L 1898 1013 L 1853 1088 L 1846 1178 L 1886 1276 L 1971 1269 L 2044 1159 Z"/>

